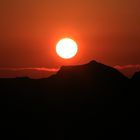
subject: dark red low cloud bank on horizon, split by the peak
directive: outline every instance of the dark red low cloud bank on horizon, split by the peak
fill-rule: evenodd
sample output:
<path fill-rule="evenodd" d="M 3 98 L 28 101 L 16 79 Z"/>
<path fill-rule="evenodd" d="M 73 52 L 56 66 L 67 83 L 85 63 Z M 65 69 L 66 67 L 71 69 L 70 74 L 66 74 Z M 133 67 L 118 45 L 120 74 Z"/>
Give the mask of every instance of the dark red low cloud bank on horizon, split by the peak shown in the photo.
<path fill-rule="evenodd" d="M 132 78 L 135 72 L 140 71 L 140 65 L 113 66 L 125 76 Z M 59 68 L 0 68 L 0 78 L 29 77 L 31 79 L 48 78 L 56 74 Z"/>

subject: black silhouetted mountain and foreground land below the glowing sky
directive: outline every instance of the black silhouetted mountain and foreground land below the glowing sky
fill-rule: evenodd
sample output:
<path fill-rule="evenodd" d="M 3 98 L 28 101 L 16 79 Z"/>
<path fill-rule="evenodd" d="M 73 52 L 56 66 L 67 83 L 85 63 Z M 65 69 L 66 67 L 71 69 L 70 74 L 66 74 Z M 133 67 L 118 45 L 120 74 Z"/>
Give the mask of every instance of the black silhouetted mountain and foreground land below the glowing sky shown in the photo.
<path fill-rule="evenodd" d="M 0 79 L 1 127 L 45 132 L 48 139 L 134 138 L 139 80 L 96 61 L 64 66 L 46 79 Z"/>

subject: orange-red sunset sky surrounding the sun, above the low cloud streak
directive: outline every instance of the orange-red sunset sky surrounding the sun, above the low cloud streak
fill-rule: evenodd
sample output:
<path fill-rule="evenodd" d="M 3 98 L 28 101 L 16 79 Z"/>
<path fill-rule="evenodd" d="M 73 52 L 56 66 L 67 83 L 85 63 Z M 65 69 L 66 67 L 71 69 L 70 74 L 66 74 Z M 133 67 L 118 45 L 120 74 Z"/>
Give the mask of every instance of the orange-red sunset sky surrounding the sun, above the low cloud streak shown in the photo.
<path fill-rule="evenodd" d="M 77 55 L 55 52 L 63 37 Z M 140 64 L 140 0 L 0 0 L 0 68 Z"/>

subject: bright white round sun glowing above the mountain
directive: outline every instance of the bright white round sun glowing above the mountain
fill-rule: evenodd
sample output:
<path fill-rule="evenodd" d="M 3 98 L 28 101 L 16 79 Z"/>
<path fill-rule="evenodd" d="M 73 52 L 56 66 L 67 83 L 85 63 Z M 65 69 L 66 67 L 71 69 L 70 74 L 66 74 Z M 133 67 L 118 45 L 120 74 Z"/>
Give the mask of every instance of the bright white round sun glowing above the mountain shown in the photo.
<path fill-rule="evenodd" d="M 77 51 L 77 43 L 71 38 L 63 38 L 56 44 L 56 53 L 63 59 L 73 58 Z"/>

